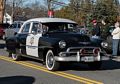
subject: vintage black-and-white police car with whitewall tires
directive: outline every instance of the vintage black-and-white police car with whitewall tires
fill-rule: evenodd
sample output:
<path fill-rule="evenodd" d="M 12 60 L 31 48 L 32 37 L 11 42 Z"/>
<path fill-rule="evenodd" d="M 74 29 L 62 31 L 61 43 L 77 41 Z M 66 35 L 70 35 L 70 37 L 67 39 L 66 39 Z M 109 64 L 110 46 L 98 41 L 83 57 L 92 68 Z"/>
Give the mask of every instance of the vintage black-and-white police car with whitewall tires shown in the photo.
<path fill-rule="evenodd" d="M 62 18 L 35 18 L 23 23 L 18 34 L 6 39 L 6 48 L 13 60 L 22 56 L 37 58 L 54 71 L 61 62 L 83 62 L 100 68 L 108 60 L 99 43 L 75 32 L 77 23 Z M 104 46 L 104 43 L 102 43 Z"/>

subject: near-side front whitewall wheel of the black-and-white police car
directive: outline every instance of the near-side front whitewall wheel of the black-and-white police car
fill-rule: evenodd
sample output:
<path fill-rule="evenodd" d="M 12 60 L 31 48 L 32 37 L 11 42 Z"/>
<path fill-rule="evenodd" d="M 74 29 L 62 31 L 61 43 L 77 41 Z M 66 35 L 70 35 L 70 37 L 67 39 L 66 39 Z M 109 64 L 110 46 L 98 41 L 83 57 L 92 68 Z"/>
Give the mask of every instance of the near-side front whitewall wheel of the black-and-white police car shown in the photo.
<path fill-rule="evenodd" d="M 46 67 L 50 71 L 55 71 L 59 68 L 59 62 L 55 61 L 54 54 L 52 50 L 48 50 L 46 54 Z"/>

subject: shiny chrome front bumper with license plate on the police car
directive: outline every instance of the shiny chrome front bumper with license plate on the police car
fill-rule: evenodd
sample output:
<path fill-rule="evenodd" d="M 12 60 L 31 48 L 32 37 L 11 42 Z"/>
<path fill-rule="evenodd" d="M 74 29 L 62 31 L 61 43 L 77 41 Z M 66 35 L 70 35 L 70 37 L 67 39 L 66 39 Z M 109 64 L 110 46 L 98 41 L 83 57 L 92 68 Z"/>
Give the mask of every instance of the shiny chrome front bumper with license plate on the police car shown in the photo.
<path fill-rule="evenodd" d="M 64 53 L 65 54 L 65 53 Z M 67 53 L 66 53 L 67 54 Z M 72 56 L 55 56 L 54 57 L 56 61 L 60 62 L 94 62 L 94 61 L 103 61 L 103 60 L 109 60 L 109 56 L 100 56 L 100 52 L 97 56 L 81 56 L 79 52 L 77 52 L 76 55 Z"/>

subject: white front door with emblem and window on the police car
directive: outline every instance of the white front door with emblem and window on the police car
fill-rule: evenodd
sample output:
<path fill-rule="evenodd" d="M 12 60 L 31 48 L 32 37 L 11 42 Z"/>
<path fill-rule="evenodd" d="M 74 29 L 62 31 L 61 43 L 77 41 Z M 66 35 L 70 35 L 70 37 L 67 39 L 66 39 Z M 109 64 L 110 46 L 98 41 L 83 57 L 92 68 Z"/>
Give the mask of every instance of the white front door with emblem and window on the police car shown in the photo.
<path fill-rule="evenodd" d="M 33 22 L 30 30 L 30 34 L 26 39 L 26 52 L 27 55 L 39 57 L 38 55 L 38 43 L 39 38 L 42 37 L 41 26 L 39 22 Z"/>

